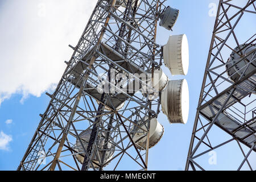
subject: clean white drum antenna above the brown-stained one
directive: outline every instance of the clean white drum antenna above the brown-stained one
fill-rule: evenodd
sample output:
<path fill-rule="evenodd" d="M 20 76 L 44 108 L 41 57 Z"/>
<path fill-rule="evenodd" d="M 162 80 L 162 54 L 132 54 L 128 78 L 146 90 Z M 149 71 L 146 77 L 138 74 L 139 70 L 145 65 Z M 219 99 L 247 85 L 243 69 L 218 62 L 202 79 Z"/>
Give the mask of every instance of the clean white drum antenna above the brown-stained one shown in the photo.
<path fill-rule="evenodd" d="M 188 39 L 185 34 L 171 35 L 163 47 L 164 64 L 172 75 L 187 75 L 189 67 Z"/>

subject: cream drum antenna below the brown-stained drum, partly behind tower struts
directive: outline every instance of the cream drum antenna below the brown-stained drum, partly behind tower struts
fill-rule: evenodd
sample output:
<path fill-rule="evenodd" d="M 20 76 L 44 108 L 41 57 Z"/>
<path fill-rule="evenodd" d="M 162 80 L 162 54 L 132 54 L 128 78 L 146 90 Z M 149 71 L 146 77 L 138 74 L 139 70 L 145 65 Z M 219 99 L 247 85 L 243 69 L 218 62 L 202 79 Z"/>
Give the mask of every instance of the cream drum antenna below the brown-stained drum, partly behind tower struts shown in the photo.
<path fill-rule="evenodd" d="M 148 120 L 147 118 L 145 120 Z M 138 122 L 138 125 L 141 125 L 142 121 Z M 147 130 L 145 125 L 142 125 L 143 130 Z M 141 150 L 146 150 L 147 145 L 147 133 L 142 129 L 138 129 L 137 133 L 134 134 L 133 140 L 138 145 L 138 148 Z M 152 118 L 150 121 L 150 141 L 149 148 L 154 147 L 160 139 L 163 137 L 164 127 L 158 122 L 156 118 Z M 144 137 L 143 137 L 144 136 Z"/>

